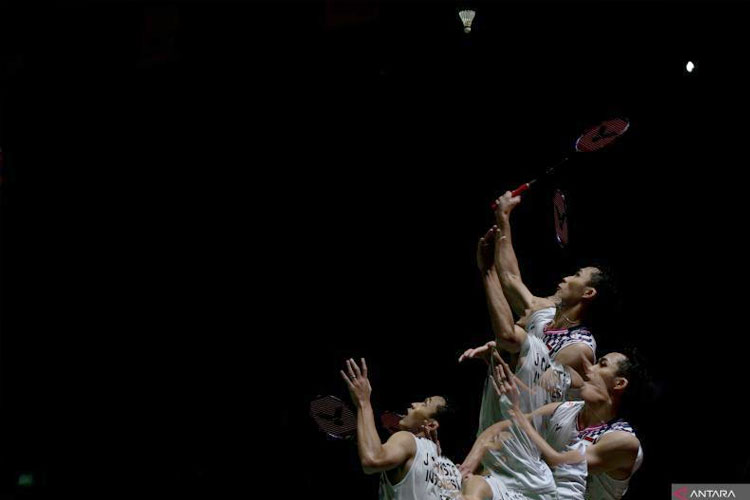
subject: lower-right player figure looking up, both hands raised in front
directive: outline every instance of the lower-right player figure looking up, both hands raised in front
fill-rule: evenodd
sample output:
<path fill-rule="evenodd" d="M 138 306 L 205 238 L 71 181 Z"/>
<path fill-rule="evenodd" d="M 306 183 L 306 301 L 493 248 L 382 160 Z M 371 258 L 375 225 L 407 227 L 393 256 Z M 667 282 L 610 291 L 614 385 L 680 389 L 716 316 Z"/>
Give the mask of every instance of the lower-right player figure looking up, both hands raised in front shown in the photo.
<path fill-rule="evenodd" d="M 487 429 L 464 460 L 462 469 L 476 468 L 478 461 L 509 428 L 521 429 L 541 451 L 551 467 L 562 500 L 619 500 L 625 495 L 633 474 L 643 461 L 643 449 L 633 428 L 618 418 L 643 380 L 642 363 L 637 356 L 609 353 L 592 365 L 583 359 L 584 377 L 574 375 L 581 388 L 582 401 L 545 405 L 534 415 L 547 425 L 542 434 L 531 424 L 531 414 L 522 412 L 519 388 L 510 367 L 502 360 L 493 385 L 500 399 L 513 405 L 513 423 L 503 421 Z M 485 484 L 486 483 L 486 484 Z M 497 498 L 492 478 L 466 481 L 466 498 Z M 490 494 L 493 496 L 490 497 Z"/>

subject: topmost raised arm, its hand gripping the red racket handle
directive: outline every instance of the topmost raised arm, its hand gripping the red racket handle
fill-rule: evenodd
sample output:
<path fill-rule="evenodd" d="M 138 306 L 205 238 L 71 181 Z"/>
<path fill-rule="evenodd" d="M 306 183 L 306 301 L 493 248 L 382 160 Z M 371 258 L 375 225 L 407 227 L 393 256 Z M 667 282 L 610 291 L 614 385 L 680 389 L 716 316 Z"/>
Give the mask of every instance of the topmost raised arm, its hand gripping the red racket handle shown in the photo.
<path fill-rule="evenodd" d="M 521 202 L 521 197 L 511 196 L 510 191 L 497 199 L 497 243 L 495 244 L 495 267 L 503 293 L 516 316 L 521 317 L 528 309 L 554 305 L 549 299 L 535 297 L 521 279 L 521 269 L 513 250 L 510 230 L 510 213 Z"/>

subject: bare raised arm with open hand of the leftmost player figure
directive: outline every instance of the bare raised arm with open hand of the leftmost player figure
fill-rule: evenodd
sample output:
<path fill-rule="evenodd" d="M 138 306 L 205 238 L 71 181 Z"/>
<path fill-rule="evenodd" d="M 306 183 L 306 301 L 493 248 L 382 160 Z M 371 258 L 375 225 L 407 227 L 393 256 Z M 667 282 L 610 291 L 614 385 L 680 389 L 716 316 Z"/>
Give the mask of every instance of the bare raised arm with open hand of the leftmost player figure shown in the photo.
<path fill-rule="evenodd" d="M 405 431 L 393 434 L 383 444 L 375 427 L 375 415 L 370 404 L 372 388 L 367 378 L 367 364 L 362 358 L 362 368 L 353 359 L 346 361 L 347 373 L 341 376 L 349 388 L 349 395 L 357 407 L 357 450 L 365 474 L 391 470 L 416 454 L 414 437 Z"/>

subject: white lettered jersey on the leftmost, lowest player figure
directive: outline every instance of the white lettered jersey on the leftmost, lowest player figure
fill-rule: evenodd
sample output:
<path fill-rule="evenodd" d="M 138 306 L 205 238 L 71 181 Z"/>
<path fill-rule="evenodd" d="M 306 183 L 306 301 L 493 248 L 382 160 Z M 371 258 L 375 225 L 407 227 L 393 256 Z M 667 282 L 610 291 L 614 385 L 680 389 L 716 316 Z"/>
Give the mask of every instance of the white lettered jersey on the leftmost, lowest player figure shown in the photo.
<path fill-rule="evenodd" d="M 435 443 L 414 436 L 417 452 L 397 484 L 380 475 L 380 500 L 453 500 L 461 492 L 461 473 L 448 458 L 438 455 Z"/>

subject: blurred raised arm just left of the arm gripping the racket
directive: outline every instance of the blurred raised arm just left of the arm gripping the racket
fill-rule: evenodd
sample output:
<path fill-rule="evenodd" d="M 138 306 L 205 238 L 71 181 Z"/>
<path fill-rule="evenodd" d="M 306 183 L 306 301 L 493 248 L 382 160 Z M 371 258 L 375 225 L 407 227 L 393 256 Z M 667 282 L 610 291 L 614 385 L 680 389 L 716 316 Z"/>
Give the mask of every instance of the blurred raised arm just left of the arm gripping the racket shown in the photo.
<path fill-rule="evenodd" d="M 493 247 L 496 246 L 496 233 L 497 230 L 493 227 L 479 239 L 477 265 L 482 274 L 482 285 L 497 346 L 509 352 L 518 352 L 521 350 L 526 332 L 514 324 L 513 312 L 505 299 L 498 273 L 494 269 L 492 256 L 495 254 Z"/>

